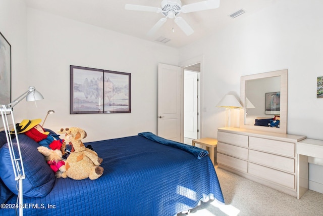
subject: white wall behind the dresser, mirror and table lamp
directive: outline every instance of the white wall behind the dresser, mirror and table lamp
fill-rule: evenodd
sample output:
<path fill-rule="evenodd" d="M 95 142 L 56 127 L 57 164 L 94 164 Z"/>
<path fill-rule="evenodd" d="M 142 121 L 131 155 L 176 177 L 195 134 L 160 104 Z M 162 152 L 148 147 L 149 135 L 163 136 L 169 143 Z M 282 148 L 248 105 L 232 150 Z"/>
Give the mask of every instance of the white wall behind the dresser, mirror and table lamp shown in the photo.
<path fill-rule="evenodd" d="M 216 105 L 228 93 L 239 98 L 240 76 L 288 69 L 288 133 L 323 140 L 323 99 L 316 99 L 316 77 L 323 75 L 322 8 L 320 0 L 277 1 L 180 49 L 180 61 L 204 55 L 204 137 L 216 138 L 225 126 L 225 112 Z M 315 175 L 322 187 L 323 171 Z"/>

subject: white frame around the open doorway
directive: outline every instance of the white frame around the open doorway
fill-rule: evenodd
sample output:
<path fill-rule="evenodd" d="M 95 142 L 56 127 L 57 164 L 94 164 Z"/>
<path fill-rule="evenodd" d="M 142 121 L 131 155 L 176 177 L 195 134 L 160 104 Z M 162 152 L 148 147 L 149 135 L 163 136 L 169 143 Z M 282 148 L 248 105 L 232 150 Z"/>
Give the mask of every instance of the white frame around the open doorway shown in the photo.
<path fill-rule="evenodd" d="M 199 102 L 200 102 L 200 110 L 199 110 L 199 137 L 203 137 L 203 66 L 204 66 L 204 55 L 196 56 L 194 58 L 187 59 L 185 61 L 182 61 L 179 63 L 179 67 L 185 68 L 194 64 L 201 64 L 200 68 L 200 79 L 199 79 L 199 85 L 200 85 L 200 92 L 199 92 Z M 182 70 L 182 78 L 181 78 L 181 140 L 184 141 L 184 70 Z"/>

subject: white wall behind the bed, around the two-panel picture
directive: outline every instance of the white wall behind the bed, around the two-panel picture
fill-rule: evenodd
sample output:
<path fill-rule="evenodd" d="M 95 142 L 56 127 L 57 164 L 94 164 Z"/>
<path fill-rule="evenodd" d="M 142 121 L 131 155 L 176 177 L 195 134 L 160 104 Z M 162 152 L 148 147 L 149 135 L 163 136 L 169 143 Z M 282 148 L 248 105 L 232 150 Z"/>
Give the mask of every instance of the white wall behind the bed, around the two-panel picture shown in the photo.
<path fill-rule="evenodd" d="M 37 107 L 34 103 L 25 105 L 27 114 L 20 114 L 22 106 L 17 105 L 17 122 L 23 118 L 44 119 L 52 109 L 55 113 L 48 116 L 44 126 L 53 130 L 81 127 L 88 134 L 84 142 L 143 131 L 156 133 L 157 64 L 176 65 L 177 49 L 34 9 L 27 9 L 24 40 L 28 48 L 24 71 L 28 76 L 22 79 L 34 85 L 45 99 L 37 101 Z M 131 73 L 131 113 L 71 115 L 70 65 Z M 15 75 L 14 82 L 17 78 Z"/>

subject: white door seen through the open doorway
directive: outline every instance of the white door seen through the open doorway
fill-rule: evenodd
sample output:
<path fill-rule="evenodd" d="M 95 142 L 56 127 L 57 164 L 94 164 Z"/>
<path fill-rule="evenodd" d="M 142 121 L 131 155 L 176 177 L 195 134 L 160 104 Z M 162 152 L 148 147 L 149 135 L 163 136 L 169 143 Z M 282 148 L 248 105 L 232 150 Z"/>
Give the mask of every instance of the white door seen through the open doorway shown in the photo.
<path fill-rule="evenodd" d="M 184 139 L 198 139 L 198 73 L 184 71 Z"/>

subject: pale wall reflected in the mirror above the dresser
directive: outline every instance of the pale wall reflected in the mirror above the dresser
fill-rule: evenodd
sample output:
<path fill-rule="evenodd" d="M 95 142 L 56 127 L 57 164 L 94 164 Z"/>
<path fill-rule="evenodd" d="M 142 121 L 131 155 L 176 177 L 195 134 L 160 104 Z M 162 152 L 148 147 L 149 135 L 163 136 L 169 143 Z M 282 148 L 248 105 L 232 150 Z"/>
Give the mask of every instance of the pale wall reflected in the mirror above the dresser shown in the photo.
<path fill-rule="evenodd" d="M 280 76 L 246 80 L 245 124 L 254 125 L 255 119 L 269 119 L 279 115 L 280 97 L 278 101 L 278 97 L 271 94 L 271 100 L 266 100 L 266 94 L 280 92 L 280 83 Z"/>

